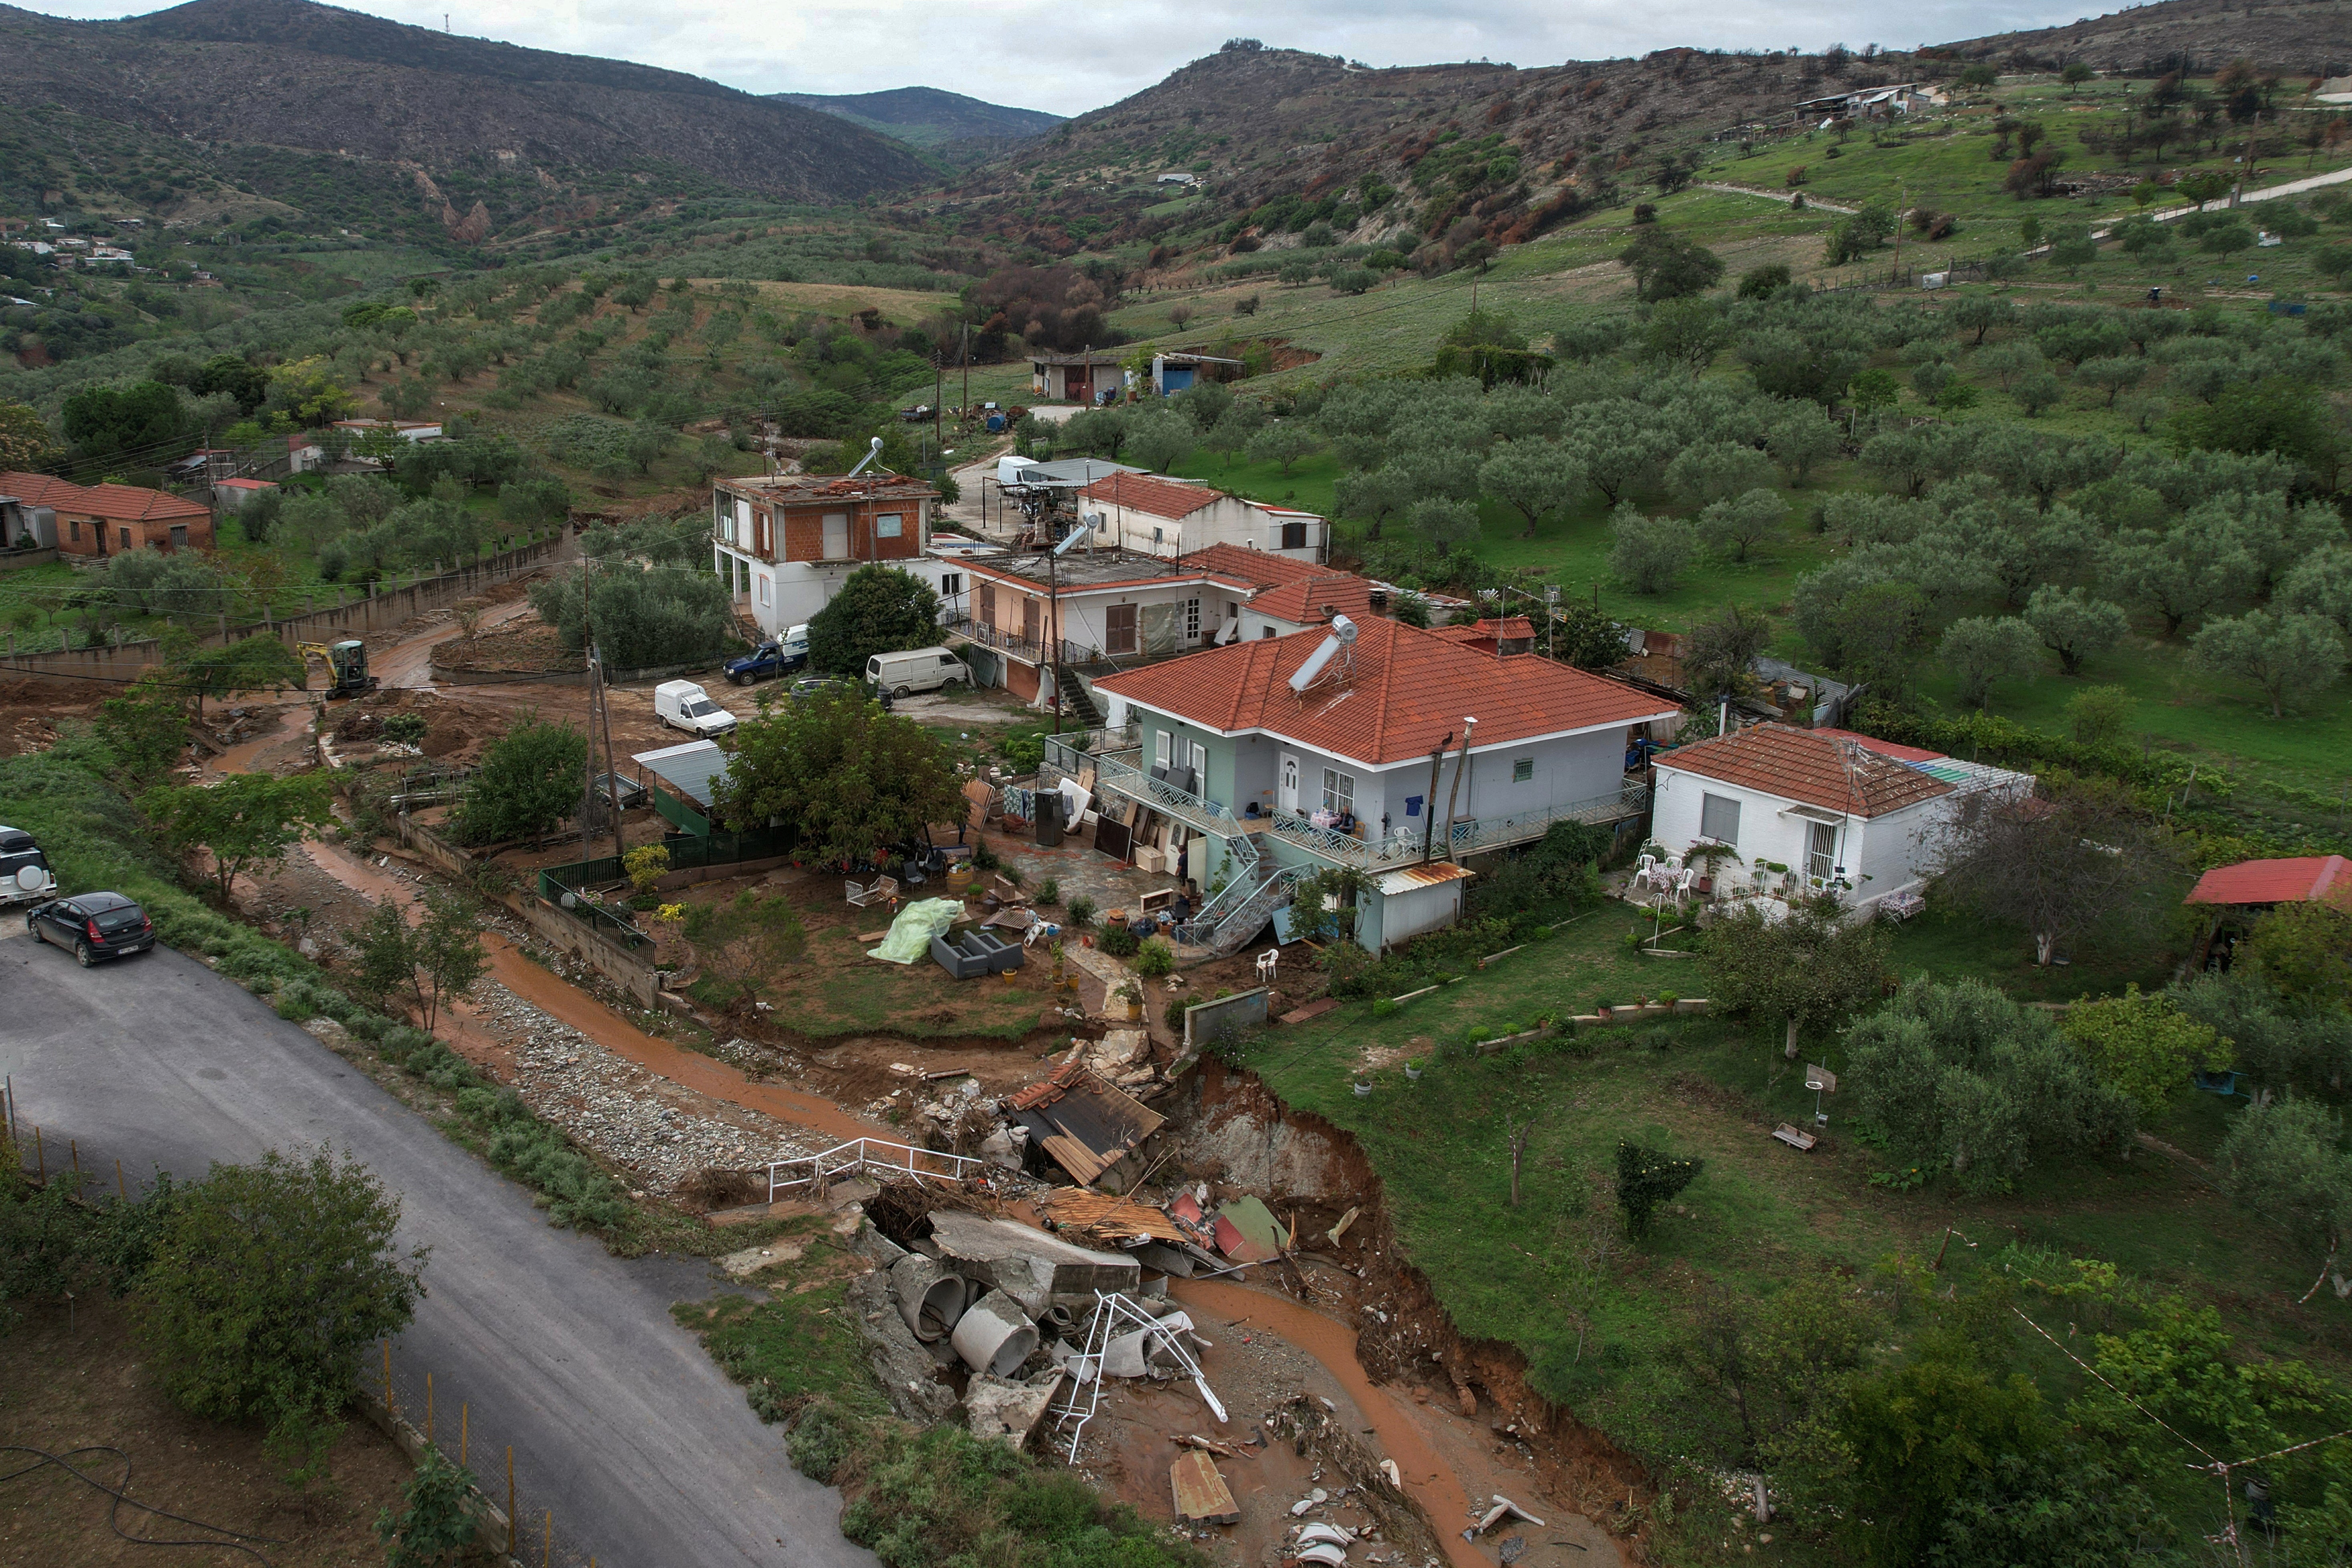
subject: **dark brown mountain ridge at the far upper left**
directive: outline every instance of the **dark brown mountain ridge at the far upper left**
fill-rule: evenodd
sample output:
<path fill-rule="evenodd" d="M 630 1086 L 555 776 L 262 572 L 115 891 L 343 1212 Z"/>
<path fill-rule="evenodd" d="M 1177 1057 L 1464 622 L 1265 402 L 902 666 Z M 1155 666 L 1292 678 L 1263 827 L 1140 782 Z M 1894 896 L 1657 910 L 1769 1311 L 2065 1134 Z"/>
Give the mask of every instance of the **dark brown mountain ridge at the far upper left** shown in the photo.
<path fill-rule="evenodd" d="M 903 146 L 797 103 L 310 0 L 193 0 L 127 21 L 0 7 L 0 54 L 14 61 L 0 106 L 59 103 L 214 148 L 513 174 L 550 195 L 581 176 L 630 174 L 640 186 L 835 202 L 922 174 Z M 485 209 L 475 228 L 503 221 Z"/>

